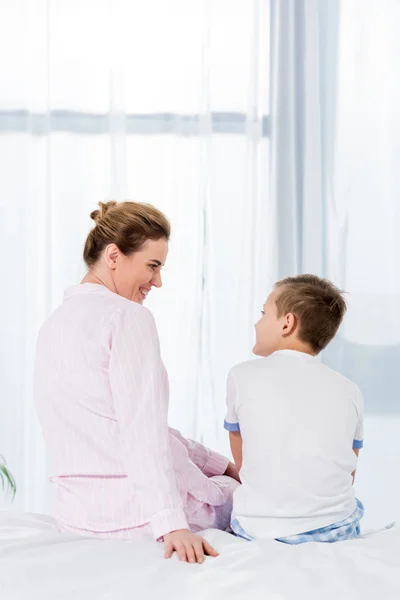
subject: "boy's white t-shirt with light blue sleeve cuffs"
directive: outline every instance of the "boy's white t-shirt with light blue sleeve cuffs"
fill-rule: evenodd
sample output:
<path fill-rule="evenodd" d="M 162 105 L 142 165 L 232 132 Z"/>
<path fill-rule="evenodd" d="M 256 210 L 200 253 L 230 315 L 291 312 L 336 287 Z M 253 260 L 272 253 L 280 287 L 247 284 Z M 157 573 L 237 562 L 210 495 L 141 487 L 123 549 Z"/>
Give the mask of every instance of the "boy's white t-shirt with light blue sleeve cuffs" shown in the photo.
<path fill-rule="evenodd" d="M 280 350 L 231 370 L 227 405 L 225 428 L 243 440 L 232 516 L 246 533 L 286 537 L 354 512 L 363 398 L 353 382 L 309 354 Z"/>

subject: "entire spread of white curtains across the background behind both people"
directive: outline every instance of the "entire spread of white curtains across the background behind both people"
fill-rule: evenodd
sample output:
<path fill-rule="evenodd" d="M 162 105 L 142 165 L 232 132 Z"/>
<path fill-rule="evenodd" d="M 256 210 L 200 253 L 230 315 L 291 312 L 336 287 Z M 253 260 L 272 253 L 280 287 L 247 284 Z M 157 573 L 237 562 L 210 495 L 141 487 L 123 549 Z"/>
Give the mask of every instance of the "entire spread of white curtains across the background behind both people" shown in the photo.
<path fill-rule="evenodd" d="M 82 277 L 88 215 L 134 199 L 173 226 L 152 293 L 171 423 L 221 451 L 229 368 L 278 277 L 349 293 L 323 360 L 366 397 L 357 491 L 400 499 L 396 0 L 0 0 L 0 453 L 48 510 L 35 338 Z M 0 500 L 1 501 L 1 500 Z"/>

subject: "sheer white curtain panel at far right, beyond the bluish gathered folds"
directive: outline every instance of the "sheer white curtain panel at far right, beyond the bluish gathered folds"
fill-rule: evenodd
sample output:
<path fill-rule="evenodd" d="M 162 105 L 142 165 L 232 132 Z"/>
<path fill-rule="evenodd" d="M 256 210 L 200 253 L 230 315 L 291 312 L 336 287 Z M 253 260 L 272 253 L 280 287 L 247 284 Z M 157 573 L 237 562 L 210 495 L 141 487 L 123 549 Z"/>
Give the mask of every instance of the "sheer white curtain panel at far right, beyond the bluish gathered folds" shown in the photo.
<path fill-rule="evenodd" d="M 350 311 L 329 360 L 365 394 L 359 491 L 377 521 L 400 506 L 400 5 L 352 0 L 342 13 L 328 224 Z"/>

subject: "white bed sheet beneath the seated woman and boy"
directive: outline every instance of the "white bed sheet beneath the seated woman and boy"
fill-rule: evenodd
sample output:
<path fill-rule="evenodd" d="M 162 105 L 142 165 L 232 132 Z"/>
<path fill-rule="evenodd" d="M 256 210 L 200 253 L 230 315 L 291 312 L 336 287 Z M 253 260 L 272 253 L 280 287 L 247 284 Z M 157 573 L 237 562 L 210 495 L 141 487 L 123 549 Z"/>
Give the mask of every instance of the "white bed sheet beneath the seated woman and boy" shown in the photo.
<path fill-rule="evenodd" d="M 220 531 L 203 565 L 161 544 L 57 533 L 41 515 L 0 512 L 1 600 L 399 600 L 400 529 L 336 544 L 244 542 Z"/>

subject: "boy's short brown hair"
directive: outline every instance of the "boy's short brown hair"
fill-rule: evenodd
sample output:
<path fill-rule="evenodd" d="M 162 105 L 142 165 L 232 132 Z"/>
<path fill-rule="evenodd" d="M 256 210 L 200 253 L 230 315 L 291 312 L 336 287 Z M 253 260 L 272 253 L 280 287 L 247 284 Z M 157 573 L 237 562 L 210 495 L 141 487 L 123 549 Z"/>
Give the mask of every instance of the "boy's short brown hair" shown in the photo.
<path fill-rule="evenodd" d="M 343 292 L 316 275 L 286 277 L 275 284 L 278 318 L 292 313 L 299 322 L 298 336 L 316 354 L 335 337 L 347 306 Z"/>

